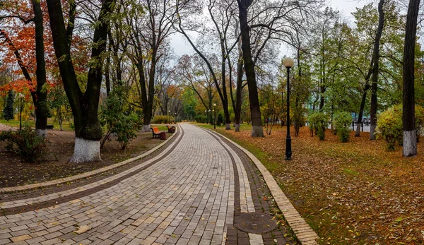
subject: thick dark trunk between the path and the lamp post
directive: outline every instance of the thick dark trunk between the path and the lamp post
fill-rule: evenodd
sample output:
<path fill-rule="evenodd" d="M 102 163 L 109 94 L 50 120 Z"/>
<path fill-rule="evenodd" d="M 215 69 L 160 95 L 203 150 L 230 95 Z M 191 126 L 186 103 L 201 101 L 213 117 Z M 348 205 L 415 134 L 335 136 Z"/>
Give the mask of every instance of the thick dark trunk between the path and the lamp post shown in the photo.
<path fill-rule="evenodd" d="M 261 119 L 261 107 L 259 105 L 257 82 L 252 60 L 252 49 L 250 47 L 249 23 L 247 22 L 247 8 L 249 8 L 249 5 L 252 4 L 252 1 L 237 0 L 237 4 L 239 7 L 243 60 L 245 61 L 247 86 L 249 88 L 250 114 L 252 116 L 252 137 L 264 137 L 264 128 L 262 126 Z"/>

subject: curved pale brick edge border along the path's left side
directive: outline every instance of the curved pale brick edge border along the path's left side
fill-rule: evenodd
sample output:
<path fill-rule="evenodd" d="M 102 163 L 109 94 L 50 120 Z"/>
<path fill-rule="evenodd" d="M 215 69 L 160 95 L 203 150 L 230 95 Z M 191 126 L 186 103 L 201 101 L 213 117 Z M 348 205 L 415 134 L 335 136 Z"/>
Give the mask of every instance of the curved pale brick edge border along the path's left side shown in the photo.
<path fill-rule="evenodd" d="M 40 182 L 40 183 L 36 183 L 36 184 L 28 184 L 28 185 L 25 185 L 25 186 L 12 186 L 12 187 L 0 188 L 0 194 L 2 194 L 2 193 L 13 193 L 13 192 L 19 192 L 19 191 L 28 191 L 28 190 L 33 190 L 33 189 L 40 189 L 42 187 L 47 187 L 47 186 L 55 186 L 57 184 L 63 184 L 63 183 L 69 182 L 69 181 L 76 181 L 77 179 L 88 178 L 88 177 L 91 177 L 91 176 L 96 175 L 96 174 L 101 174 L 102 172 L 110 171 L 110 170 L 115 169 L 117 167 L 122 167 L 124 165 L 127 165 L 131 162 L 134 162 L 134 161 L 139 160 L 143 157 L 146 157 L 147 155 L 154 153 L 159 148 L 162 148 L 163 145 L 165 145 L 168 141 L 170 141 L 176 134 L 177 133 L 172 133 L 170 138 L 167 138 L 165 141 L 163 141 L 163 143 L 156 145 L 155 148 L 152 148 L 151 150 L 148 150 L 146 153 L 143 153 L 143 154 L 138 155 L 136 157 L 132 157 L 132 158 L 127 159 L 125 161 L 118 162 L 118 163 L 115 163 L 113 165 L 109 165 L 107 167 L 102 167 L 100 169 L 95 169 L 95 170 L 90 171 L 90 172 L 85 172 L 85 173 L 82 173 L 82 174 L 73 175 L 71 177 L 54 179 L 54 180 L 51 180 L 51 181 Z"/>

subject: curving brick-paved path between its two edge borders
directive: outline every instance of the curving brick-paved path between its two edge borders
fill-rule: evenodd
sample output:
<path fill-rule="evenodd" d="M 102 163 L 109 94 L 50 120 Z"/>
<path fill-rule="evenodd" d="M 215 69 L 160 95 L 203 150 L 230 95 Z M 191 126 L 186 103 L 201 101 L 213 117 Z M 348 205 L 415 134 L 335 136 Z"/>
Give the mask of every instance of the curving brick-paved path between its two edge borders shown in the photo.
<path fill-rule="evenodd" d="M 284 225 L 268 234 L 234 228 L 240 213 L 276 212 L 246 155 L 190 124 L 174 138 L 112 176 L 0 198 L 0 244 L 295 244 Z"/>

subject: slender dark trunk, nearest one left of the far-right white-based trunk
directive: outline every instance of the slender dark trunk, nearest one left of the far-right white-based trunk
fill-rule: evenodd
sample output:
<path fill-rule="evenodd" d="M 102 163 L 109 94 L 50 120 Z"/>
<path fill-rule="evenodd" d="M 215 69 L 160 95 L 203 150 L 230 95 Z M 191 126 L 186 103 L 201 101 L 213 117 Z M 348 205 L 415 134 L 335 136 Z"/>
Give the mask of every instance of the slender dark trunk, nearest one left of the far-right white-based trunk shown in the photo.
<path fill-rule="evenodd" d="M 379 41 L 382 37 L 383 26 L 384 26 L 384 11 L 383 11 L 384 0 L 380 0 L 378 4 L 378 28 L 377 34 L 375 35 L 374 41 L 374 52 L 372 53 L 372 64 L 374 69 L 371 77 L 371 126 L 370 126 L 370 140 L 375 141 L 375 127 L 377 126 L 377 82 L 379 72 Z"/>

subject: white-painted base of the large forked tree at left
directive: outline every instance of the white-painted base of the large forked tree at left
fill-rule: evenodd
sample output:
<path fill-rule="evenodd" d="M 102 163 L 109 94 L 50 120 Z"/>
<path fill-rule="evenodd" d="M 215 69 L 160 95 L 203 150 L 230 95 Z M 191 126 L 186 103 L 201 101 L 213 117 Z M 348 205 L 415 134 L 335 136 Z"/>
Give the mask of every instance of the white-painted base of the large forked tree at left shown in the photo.
<path fill-rule="evenodd" d="M 75 138 L 75 148 L 69 162 L 97 162 L 101 161 L 100 141 L 88 141 Z"/>

